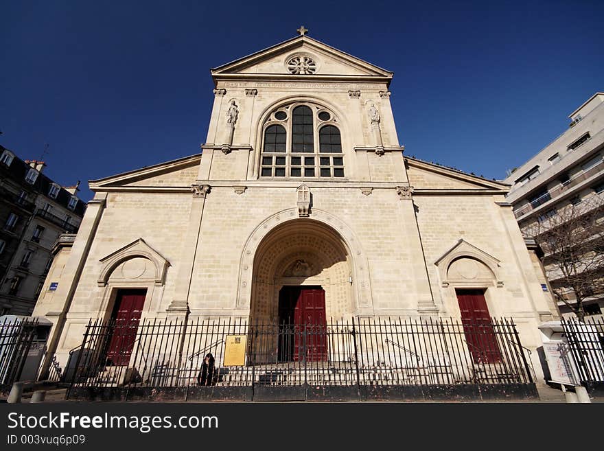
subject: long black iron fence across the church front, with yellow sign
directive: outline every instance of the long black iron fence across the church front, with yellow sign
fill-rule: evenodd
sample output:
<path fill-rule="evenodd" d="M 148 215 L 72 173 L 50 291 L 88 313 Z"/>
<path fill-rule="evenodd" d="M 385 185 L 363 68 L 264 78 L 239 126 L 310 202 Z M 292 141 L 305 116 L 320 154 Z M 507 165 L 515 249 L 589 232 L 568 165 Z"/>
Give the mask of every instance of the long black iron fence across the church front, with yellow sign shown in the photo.
<path fill-rule="evenodd" d="M 90 321 L 72 389 L 533 384 L 508 319 Z M 74 359 L 77 353 L 77 359 Z"/>

